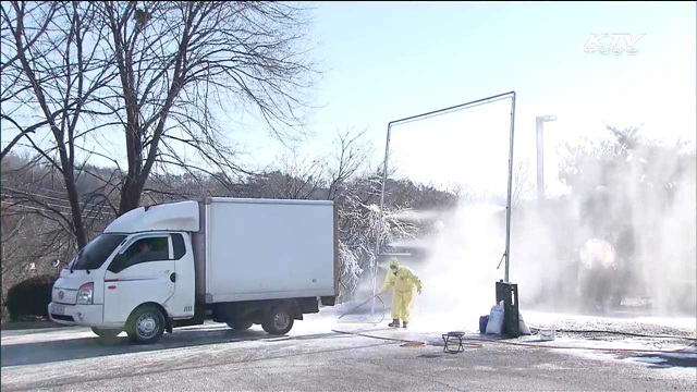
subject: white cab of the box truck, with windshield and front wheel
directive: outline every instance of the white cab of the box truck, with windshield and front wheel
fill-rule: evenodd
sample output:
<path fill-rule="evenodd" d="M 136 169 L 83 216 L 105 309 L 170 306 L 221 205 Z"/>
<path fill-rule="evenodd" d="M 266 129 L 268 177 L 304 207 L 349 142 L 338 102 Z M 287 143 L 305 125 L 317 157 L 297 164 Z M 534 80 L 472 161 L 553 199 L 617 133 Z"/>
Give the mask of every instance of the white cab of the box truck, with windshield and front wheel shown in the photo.
<path fill-rule="evenodd" d="M 192 318 L 191 232 L 199 229 L 197 218 L 196 203 L 188 201 L 138 208 L 117 219 L 61 271 L 51 320 L 91 327 L 102 338 L 125 330 L 145 342 L 171 321 Z"/>

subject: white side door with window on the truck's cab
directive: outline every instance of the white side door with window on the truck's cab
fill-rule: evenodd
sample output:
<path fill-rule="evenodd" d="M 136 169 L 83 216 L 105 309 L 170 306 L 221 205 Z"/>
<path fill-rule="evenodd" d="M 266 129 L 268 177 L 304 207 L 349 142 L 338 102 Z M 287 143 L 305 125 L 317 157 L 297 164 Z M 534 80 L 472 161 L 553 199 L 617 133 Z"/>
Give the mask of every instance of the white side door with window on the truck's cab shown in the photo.
<path fill-rule="evenodd" d="M 174 264 L 169 234 L 143 235 L 126 244 L 105 275 L 105 324 L 123 326 L 147 302 L 164 306 L 174 294 Z"/>

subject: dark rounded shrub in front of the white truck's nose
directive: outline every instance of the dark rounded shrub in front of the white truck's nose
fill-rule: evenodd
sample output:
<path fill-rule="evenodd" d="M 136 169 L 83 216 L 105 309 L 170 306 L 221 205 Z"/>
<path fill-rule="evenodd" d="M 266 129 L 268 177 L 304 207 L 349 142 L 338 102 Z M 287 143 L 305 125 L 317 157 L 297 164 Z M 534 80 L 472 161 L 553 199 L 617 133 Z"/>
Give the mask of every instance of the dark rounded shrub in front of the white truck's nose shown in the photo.
<path fill-rule="evenodd" d="M 11 321 L 27 316 L 48 317 L 48 304 L 51 302 L 51 289 L 56 278 L 42 274 L 26 279 L 8 291 L 5 306 Z"/>

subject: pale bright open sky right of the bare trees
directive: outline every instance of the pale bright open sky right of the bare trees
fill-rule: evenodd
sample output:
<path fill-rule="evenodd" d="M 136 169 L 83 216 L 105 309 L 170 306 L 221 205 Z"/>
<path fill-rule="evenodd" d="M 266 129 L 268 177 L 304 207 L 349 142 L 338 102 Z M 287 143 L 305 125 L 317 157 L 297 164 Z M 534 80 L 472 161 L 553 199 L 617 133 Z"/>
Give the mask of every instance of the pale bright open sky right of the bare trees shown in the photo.
<path fill-rule="evenodd" d="M 558 118 L 545 123 L 551 193 L 563 188 L 554 170 L 560 146 L 600 137 L 606 124 L 641 125 L 645 136 L 694 146 L 694 2 L 305 4 L 313 7 L 311 56 L 327 70 L 311 91 L 308 155 L 327 150 L 337 131 L 365 130 L 378 162 L 390 121 L 511 90 L 514 161 L 535 170 L 535 118 Z M 604 33 L 631 35 L 635 54 L 586 52 L 589 36 Z M 617 48 L 629 47 L 620 40 Z M 505 186 L 509 120 L 510 101 L 500 101 L 398 126 L 391 161 L 421 182 Z M 282 154 L 261 124 L 245 123 L 231 123 L 228 136 L 249 162 Z"/>

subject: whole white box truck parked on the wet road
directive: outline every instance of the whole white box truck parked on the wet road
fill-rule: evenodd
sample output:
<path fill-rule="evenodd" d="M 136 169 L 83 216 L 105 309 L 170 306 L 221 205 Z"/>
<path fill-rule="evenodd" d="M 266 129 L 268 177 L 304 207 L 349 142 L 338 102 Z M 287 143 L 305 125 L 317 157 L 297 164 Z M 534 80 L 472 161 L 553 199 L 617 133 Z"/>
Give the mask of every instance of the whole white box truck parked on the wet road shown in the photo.
<path fill-rule="evenodd" d="M 61 271 L 49 315 L 138 343 L 206 319 L 284 334 L 334 305 L 338 277 L 332 201 L 209 197 L 117 218 Z"/>

